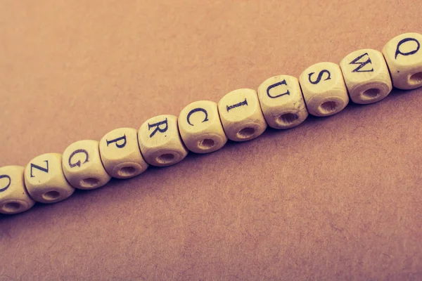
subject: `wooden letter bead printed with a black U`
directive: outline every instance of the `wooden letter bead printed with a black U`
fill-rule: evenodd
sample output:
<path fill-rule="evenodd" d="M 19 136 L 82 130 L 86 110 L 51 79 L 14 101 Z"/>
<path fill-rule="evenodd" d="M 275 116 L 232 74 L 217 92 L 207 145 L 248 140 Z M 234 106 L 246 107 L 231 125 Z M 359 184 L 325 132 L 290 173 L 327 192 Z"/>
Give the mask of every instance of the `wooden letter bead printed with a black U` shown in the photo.
<path fill-rule="evenodd" d="M 289 129 L 304 122 L 308 112 L 296 77 L 279 75 L 258 87 L 262 113 L 268 126 Z"/>

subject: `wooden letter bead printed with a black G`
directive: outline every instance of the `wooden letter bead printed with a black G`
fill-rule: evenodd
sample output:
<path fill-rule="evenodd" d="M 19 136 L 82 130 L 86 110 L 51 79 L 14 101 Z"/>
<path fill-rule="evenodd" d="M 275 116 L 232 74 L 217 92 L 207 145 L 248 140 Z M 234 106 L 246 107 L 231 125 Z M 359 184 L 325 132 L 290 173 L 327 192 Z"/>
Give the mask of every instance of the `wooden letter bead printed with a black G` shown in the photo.
<path fill-rule="evenodd" d="M 75 188 L 99 188 L 110 176 L 101 162 L 98 141 L 77 141 L 63 152 L 62 167 L 68 182 Z"/>

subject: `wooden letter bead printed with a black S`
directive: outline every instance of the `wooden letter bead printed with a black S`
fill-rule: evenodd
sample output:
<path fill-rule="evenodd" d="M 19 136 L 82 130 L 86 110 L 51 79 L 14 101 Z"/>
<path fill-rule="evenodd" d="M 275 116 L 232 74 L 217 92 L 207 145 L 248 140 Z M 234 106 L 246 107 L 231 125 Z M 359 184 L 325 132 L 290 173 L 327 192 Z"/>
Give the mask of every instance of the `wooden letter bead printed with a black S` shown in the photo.
<path fill-rule="evenodd" d="M 343 74 L 335 63 L 316 63 L 300 74 L 299 81 L 311 115 L 334 115 L 349 103 Z"/>

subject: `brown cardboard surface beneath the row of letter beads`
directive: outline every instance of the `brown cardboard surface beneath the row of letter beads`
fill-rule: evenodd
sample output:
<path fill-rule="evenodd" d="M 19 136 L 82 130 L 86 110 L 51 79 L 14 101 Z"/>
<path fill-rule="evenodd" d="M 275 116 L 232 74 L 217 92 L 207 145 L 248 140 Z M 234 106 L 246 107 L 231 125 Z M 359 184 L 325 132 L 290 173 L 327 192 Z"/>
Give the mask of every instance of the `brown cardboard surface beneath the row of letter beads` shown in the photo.
<path fill-rule="evenodd" d="M 0 166 L 421 33 L 418 0 L 0 1 Z M 422 89 L 0 217 L 0 280 L 422 280 Z"/>

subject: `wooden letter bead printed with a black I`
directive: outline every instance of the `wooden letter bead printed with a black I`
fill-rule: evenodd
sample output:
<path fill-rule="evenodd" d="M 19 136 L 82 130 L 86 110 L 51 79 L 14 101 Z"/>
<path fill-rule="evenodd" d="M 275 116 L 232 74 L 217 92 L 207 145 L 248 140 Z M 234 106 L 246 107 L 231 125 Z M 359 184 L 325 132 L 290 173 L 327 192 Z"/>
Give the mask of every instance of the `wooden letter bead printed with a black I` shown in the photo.
<path fill-rule="evenodd" d="M 267 129 L 255 90 L 238 89 L 227 93 L 219 100 L 218 111 L 224 132 L 231 141 L 249 141 Z"/>

